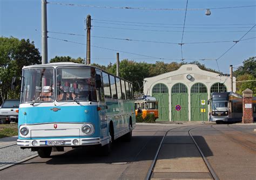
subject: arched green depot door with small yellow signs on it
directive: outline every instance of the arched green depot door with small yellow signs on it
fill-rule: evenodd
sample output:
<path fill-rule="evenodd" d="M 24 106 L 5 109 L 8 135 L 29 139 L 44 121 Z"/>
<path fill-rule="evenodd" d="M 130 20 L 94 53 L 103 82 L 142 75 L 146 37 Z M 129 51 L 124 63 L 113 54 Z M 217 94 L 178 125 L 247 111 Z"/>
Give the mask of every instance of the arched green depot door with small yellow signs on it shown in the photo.
<path fill-rule="evenodd" d="M 191 121 L 208 121 L 207 88 L 197 83 L 191 87 Z"/>

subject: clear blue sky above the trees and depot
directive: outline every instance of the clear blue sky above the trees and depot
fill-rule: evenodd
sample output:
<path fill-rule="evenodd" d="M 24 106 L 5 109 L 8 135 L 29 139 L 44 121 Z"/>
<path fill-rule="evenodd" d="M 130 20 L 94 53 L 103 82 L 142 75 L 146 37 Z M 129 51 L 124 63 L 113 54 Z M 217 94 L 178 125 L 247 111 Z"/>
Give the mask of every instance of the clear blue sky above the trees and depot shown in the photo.
<path fill-rule="evenodd" d="M 206 67 L 229 73 L 230 65 L 239 67 L 245 59 L 256 56 L 255 0 L 47 2 L 48 62 L 55 56 L 86 58 L 85 18 L 89 14 L 91 63 L 116 63 L 119 52 L 120 60 L 198 60 Z M 232 8 L 236 6 L 247 7 Z M 124 7 L 134 9 L 121 9 Z M 205 15 L 205 9 L 210 9 L 210 16 Z M 0 36 L 30 39 L 41 52 L 41 0 L 0 0 Z M 239 39 L 237 44 L 233 42 Z"/>

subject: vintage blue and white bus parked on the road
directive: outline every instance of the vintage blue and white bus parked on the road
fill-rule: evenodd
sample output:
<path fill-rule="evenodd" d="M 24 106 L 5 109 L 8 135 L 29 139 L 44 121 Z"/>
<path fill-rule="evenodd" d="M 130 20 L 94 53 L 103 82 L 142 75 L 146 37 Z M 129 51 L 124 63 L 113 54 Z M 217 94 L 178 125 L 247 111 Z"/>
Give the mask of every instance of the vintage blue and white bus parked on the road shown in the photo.
<path fill-rule="evenodd" d="M 42 158 L 52 148 L 95 146 L 131 140 L 135 128 L 132 84 L 97 67 L 50 63 L 22 69 L 18 140 Z"/>

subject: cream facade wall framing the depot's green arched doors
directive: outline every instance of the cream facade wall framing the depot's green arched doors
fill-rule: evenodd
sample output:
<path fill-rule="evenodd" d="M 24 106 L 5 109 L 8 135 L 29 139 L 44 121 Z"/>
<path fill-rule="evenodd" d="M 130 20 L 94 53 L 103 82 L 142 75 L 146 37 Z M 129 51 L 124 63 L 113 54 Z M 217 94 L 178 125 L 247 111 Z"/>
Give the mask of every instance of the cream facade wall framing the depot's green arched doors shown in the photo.
<path fill-rule="evenodd" d="M 186 76 L 190 74 L 192 78 L 188 80 Z M 196 83 L 202 83 L 207 87 L 208 99 L 210 99 L 210 89 L 216 82 L 224 83 L 227 92 L 231 91 L 231 79 L 226 76 L 219 76 L 218 73 L 201 70 L 197 65 L 183 65 L 177 71 L 164 73 L 152 78 L 144 79 L 144 94 L 152 95 L 154 85 L 163 83 L 169 89 L 169 117 L 171 119 L 171 89 L 177 83 L 183 83 L 188 89 L 188 120 L 191 120 L 191 87 Z M 235 78 L 233 77 L 233 90 L 235 92 Z M 208 107 L 208 112 L 210 108 Z"/>

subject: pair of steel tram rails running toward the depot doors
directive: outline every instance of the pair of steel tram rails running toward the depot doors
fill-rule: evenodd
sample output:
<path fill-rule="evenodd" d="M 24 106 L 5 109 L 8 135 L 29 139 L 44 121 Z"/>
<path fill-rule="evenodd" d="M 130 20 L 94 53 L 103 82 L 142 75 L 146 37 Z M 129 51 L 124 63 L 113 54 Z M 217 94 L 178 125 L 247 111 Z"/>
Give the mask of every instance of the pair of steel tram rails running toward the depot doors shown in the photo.
<path fill-rule="evenodd" d="M 207 126 L 207 124 L 205 124 L 204 126 Z M 189 127 L 189 126 L 184 126 L 184 127 Z M 150 168 L 149 168 L 149 171 L 147 172 L 147 175 L 146 175 L 146 178 L 145 178 L 146 180 L 151 179 L 151 176 L 152 176 L 154 167 L 155 167 L 156 162 L 157 162 L 157 158 L 158 158 L 158 156 L 159 156 L 159 153 L 160 153 L 161 148 L 163 147 L 163 143 L 164 143 L 164 140 L 165 140 L 165 138 L 166 138 L 166 135 L 167 135 L 170 131 L 172 131 L 172 130 L 174 130 L 174 129 L 184 128 L 184 127 L 172 128 L 172 129 L 169 129 L 169 130 L 167 130 L 167 131 L 165 132 L 165 134 L 164 134 L 164 136 L 163 136 L 163 138 L 162 138 L 162 140 L 161 140 L 161 142 L 160 142 L 160 144 L 159 144 L 159 147 L 158 147 L 156 156 L 154 157 L 154 160 L 153 160 L 152 163 L 151 163 L 151 166 L 150 166 Z M 190 128 L 190 129 L 188 130 L 188 135 L 191 137 L 191 139 L 192 139 L 194 145 L 197 147 L 197 150 L 199 151 L 201 157 L 203 158 L 203 161 L 204 161 L 204 163 L 205 163 L 207 169 L 209 170 L 209 172 L 210 172 L 212 178 L 215 179 L 215 180 L 219 180 L 219 177 L 218 177 L 218 175 L 215 173 L 215 171 L 213 170 L 213 168 L 211 167 L 210 162 L 208 162 L 207 158 L 206 158 L 206 157 L 204 156 L 204 154 L 203 154 L 203 151 L 202 151 L 202 150 L 200 149 L 200 147 L 198 146 L 196 140 L 194 140 L 194 137 L 193 137 L 191 131 L 192 131 L 193 129 L 196 129 L 196 128 L 199 128 L 199 127 Z M 171 178 L 171 177 L 170 177 L 170 178 Z"/>

